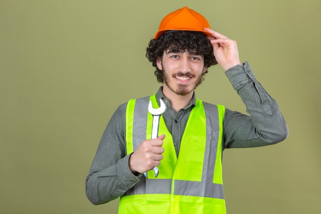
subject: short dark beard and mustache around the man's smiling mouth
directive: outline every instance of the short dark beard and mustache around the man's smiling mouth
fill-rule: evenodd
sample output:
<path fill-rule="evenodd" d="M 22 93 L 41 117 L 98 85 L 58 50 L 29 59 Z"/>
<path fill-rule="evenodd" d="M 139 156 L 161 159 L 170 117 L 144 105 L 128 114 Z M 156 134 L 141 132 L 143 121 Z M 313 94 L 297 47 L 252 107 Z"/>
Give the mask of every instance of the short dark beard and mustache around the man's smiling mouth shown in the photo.
<path fill-rule="evenodd" d="M 196 77 L 196 81 L 193 83 L 194 86 L 193 86 L 193 88 L 191 90 L 188 88 L 188 85 L 184 85 L 184 84 L 178 84 L 177 89 L 175 90 L 173 87 L 170 86 L 170 83 L 169 83 L 170 82 L 170 78 L 167 75 L 167 73 L 165 72 L 165 70 L 163 70 L 164 84 L 171 91 L 173 91 L 177 95 L 181 95 L 181 96 L 187 95 L 190 92 L 194 91 L 197 88 L 197 86 L 199 86 L 199 84 L 201 84 L 202 81 L 203 81 L 203 79 L 202 79 L 203 73 L 201 73 L 199 76 L 194 76 L 190 72 L 187 72 L 187 73 L 179 72 L 177 74 L 174 74 L 173 76 L 188 76 L 188 77 L 193 77 L 193 78 Z"/>

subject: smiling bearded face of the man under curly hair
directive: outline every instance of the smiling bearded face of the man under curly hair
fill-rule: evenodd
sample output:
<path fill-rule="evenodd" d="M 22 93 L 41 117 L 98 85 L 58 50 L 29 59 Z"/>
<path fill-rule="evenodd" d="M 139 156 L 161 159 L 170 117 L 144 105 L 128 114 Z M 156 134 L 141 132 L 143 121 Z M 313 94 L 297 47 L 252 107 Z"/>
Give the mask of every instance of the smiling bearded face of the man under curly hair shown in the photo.
<path fill-rule="evenodd" d="M 204 57 L 197 53 L 185 51 L 171 51 L 167 49 L 162 59 L 157 60 L 157 67 L 163 71 L 163 93 L 176 95 L 192 94 L 202 82 Z"/>

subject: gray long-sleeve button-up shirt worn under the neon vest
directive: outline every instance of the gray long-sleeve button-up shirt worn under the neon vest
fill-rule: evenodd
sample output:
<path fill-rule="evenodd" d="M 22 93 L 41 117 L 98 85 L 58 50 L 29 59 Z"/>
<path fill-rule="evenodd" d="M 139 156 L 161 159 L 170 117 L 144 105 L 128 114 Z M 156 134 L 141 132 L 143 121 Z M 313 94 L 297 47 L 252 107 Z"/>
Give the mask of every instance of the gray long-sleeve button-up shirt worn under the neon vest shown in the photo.
<path fill-rule="evenodd" d="M 224 148 L 266 146 L 283 141 L 288 127 L 274 99 L 257 82 L 248 62 L 226 71 L 233 88 L 245 103 L 247 112 L 242 114 L 226 108 L 223 122 Z M 167 106 L 163 118 L 171 132 L 176 154 L 191 109 L 195 106 L 195 93 L 189 105 L 177 113 L 170 107 L 162 87 L 156 99 L 163 99 Z M 110 119 L 86 179 L 86 194 L 93 204 L 103 204 L 122 196 L 141 178 L 131 173 L 126 152 L 125 119 L 127 103 L 118 107 Z"/>

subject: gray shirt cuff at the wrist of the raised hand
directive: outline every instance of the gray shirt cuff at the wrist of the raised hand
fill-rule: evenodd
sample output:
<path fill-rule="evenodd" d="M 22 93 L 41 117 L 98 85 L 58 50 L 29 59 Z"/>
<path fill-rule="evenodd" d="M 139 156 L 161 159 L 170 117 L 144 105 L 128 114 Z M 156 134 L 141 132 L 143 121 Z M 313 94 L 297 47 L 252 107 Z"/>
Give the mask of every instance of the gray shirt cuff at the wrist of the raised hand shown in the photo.
<path fill-rule="evenodd" d="M 256 77 L 248 61 L 245 61 L 243 66 L 236 65 L 228 69 L 225 74 L 235 90 L 239 90 L 251 82 L 256 82 Z"/>

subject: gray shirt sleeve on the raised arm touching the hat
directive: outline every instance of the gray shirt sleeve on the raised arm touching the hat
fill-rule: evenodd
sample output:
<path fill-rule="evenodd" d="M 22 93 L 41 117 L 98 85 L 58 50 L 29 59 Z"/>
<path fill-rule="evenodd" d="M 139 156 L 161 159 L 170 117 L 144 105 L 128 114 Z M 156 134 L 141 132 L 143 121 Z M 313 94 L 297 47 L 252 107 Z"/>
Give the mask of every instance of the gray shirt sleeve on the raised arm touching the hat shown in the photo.
<path fill-rule="evenodd" d="M 246 115 L 226 109 L 223 123 L 225 148 L 258 147 L 285 140 L 289 131 L 277 102 L 257 82 L 246 61 L 226 71 L 246 105 Z"/>

